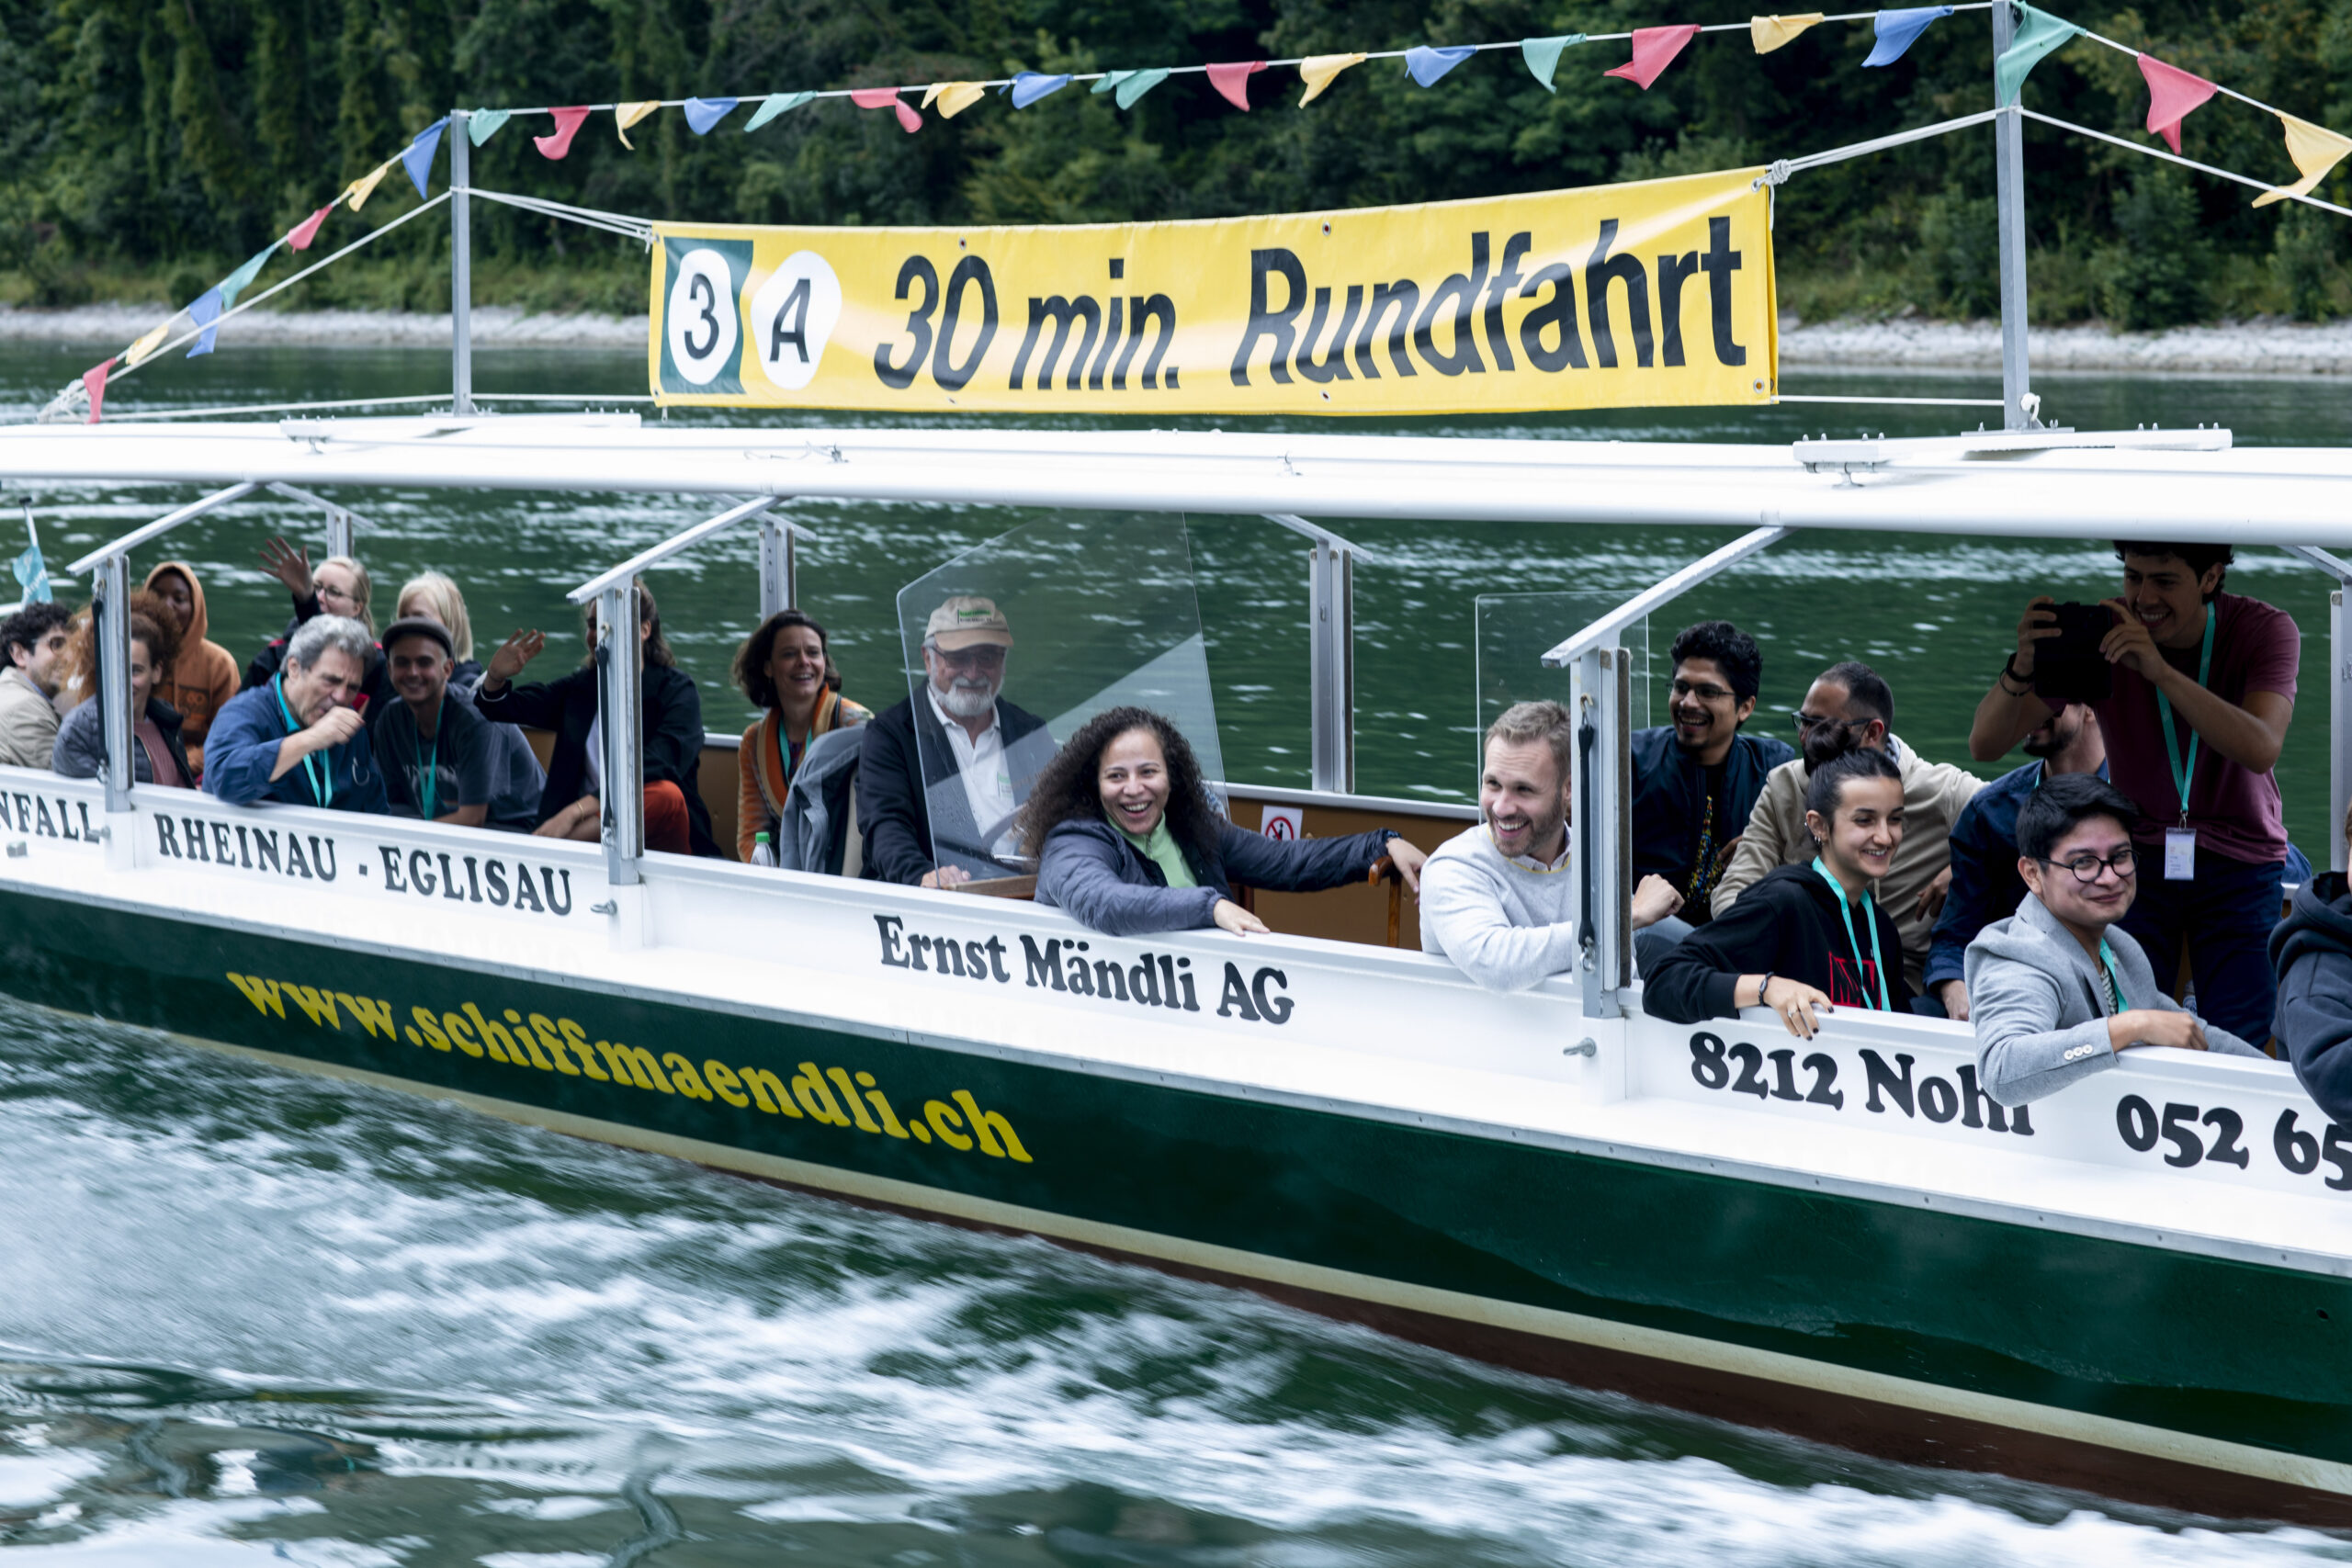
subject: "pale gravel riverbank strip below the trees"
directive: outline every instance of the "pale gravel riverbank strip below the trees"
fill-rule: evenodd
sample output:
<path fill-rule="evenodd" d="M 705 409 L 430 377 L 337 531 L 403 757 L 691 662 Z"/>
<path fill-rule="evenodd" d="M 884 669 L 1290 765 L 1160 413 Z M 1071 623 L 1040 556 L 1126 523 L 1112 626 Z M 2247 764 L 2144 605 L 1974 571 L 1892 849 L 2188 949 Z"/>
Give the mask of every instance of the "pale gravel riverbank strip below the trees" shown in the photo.
<path fill-rule="evenodd" d="M 120 346 L 155 324 L 151 306 L 80 306 L 19 310 L 0 306 L 0 339 Z M 397 310 L 252 313 L 230 322 L 223 348 L 296 343 L 320 348 L 437 348 L 449 341 L 447 315 Z M 480 348 L 637 348 L 642 315 L 527 315 L 506 306 L 473 313 Z M 2171 371 L 2227 376 L 2352 376 L 2352 322 L 2223 322 L 2176 331 L 2107 331 L 2105 327 L 2037 327 L 2037 371 Z M 1790 369 L 1971 369 L 2002 364 L 1994 322 L 1780 322 L 1780 362 Z"/>

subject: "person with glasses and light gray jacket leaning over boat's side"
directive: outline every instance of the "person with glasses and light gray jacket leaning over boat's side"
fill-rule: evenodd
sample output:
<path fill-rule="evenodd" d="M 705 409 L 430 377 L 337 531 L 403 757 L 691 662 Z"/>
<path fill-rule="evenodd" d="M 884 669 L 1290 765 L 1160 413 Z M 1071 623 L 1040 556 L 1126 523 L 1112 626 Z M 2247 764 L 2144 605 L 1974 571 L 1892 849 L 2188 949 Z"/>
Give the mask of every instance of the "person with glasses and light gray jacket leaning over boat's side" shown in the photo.
<path fill-rule="evenodd" d="M 1976 1070 L 2002 1105 L 2025 1105 L 2114 1065 L 2133 1046 L 2263 1056 L 2157 985 L 2117 924 L 2140 891 L 2131 797 L 2063 773 L 2018 806 L 2025 903 L 1969 943 Z"/>

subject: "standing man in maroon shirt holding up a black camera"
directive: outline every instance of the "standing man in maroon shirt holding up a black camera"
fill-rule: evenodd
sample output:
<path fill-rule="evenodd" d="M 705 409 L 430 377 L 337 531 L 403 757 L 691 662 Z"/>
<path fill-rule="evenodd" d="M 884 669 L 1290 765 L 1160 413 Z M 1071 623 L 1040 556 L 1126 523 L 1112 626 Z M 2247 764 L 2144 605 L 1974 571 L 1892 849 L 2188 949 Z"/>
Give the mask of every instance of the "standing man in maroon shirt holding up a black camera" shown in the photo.
<path fill-rule="evenodd" d="M 2279 922 L 2286 820 L 2274 766 L 2296 715 L 2303 635 L 2286 611 L 2223 592 L 2230 545 L 2114 545 L 2124 592 L 2105 599 L 2098 651 L 2112 691 L 2091 703 L 2107 776 L 2138 806 L 2143 872 L 2124 926 L 2171 985 L 2187 947 L 2199 1011 L 2244 1039 L 2270 1037 L 2277 990 L 2265 943 Z M 2018 646 L 1976 708 L 1969 750 L 1999 757 L 2051 705 L 2034 651 L 2058 635 L 2049 597 L 2025 607 Z"/>

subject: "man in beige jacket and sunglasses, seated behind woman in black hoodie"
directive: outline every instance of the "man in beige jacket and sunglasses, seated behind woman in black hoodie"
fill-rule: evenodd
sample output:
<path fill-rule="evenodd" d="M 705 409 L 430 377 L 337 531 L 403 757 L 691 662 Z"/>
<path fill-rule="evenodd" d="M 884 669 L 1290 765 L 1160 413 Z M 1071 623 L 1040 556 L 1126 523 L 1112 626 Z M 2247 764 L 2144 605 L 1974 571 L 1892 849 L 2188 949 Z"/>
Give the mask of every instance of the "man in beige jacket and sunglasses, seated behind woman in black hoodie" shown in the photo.
<path fill-rule="evenodd" d="M 1903 844 L 1879 882 L 1879 903 L 1903 933 L 1903 978 L 1917 994 L 1926 980 L 1926 952 L 1936 933 L 1936 914 L 1952 886 L 1952 825 L 1983 788 L 1983 780 L 1947 762 L 1926 762 L 1893 733 L 1896 693 L 1877 670 L 1863 663 L 1839 663 L 1820 672 L 1804 708 L 1790 715 L 1804 750 L 1783 762 L 1764 780 L 1764 795 L 1748 818 L 1748 832 L 1731 856 L 1731 867 L 1715 886 L 1719 917 L 1740 893 L 1764 879 L 1776 865 L 1804 865 L 1813 858 L 1813 839 L 1804 830 L 1804 785 L 1811 769 L 1851 750 L 1882 750 L 1903 771 Z"/>

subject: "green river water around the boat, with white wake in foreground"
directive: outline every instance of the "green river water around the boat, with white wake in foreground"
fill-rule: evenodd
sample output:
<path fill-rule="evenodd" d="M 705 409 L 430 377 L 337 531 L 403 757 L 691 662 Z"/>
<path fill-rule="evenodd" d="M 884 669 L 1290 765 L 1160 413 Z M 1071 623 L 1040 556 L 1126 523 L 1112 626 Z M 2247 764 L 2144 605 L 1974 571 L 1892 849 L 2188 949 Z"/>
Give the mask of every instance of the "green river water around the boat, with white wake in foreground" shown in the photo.
<path fill-rule="evenodd" d="M 0 409 L 101 353 L 0 348 Z M 433 390 L 405 350 L 223 348 L 120 407 Z M 487 390 L 642 386 L 628 355 L 485 355 Z M 1983 378 L 1792 376 L 1792 390 L 1987 395 Z M 2352 388 L 2051 381 L 2079 428 L 2227 423 L 2338 444 Z M 134 402 L 136 397 L 136 402 Z M 1630 414 L 1524 430 L 1788 440 L 1938 433 L 1955 409 Z M 1966 411 L 1973 428 L 1978 411 Z M 42 489 L 52 564 L 188 491 Z M 350 496 L 379 614 L 456 576 L 485 644 L 562 628 L 562 592 L 694 503 Z M 14 512 L 14 508 L 9 508 Z M 802 599 L 847 689 L 891 701 L 891 599 L 1025 515 L 802 505 Z M 21 522 L 0 515 L 5 552 Z M 285 505 L 174 536 L 240 656 L 285 595 L 259 571 Z M 1477 592 L 1632 590 L 1724 536 L 1677 529 L 1348 529 L 1359 785 L 1470 785 Z M 1305 585 L 1291 536 L 1192 520 L 1235 778 L 1303 783 Z M 146 564 L 146 562 L 141 562 Z M 1889 675 L 1898 731 L 1959 759 L 2018 604 L 2112 592 L 2091 545 L 1792 541 L 1684 607 L 1766 646 L 1778 722 L 1820 665 Z M 713 726 L 750 628 L 748 541 L 654 578 Z M 2324 860 L 2326 581 L 2249 555 L 2232 585 L 2303 623 L 2305 719 L 2281 780 Z M 80 597 L 78 592 L 73 597 Z M 1663 637 L 1672 625 L 1661 625 Z M 1562 628 L 1562 632 L 1573 628 Z M 1025 656 L 1025 654 L 1023 654 Z M 903 691 L 903 686 L 901 686 Z M 54 1013 L 0 1016 L 0 1554 L 7 1563 L 2244 1563 L 2352 1542 L 1919 1472 L 1583 1394 L 1249 1295 L 779 1192 L 666 1159 L 303 1077 Z M 786 1556 L 804 1554 L 804 1556 Z"/>

